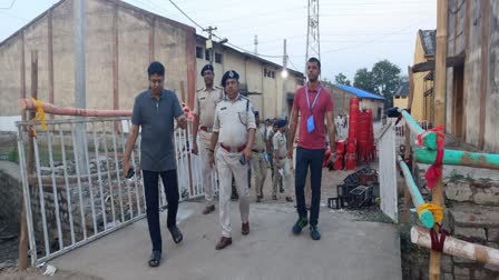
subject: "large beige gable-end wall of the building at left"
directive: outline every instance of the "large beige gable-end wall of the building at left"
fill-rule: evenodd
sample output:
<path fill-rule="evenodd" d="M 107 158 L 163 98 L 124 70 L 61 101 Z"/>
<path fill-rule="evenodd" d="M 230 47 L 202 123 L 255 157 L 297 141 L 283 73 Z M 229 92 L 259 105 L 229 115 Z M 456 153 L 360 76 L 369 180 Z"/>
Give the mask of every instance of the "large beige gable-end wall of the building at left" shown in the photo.
<path fill-rule="evenodd" d="M 166 66 L 165 87 L 194 97 L 195 29 L 115 0 L 86 2 L 87 108 L 131 110 L 147 67 Z M 75 106 L 72 1 L 63 0 L 0 42 L 0 116 L 19 116 L 38 50 L 38 98 Z M 182 88 L 182 89 L 180 89 Z"/>

